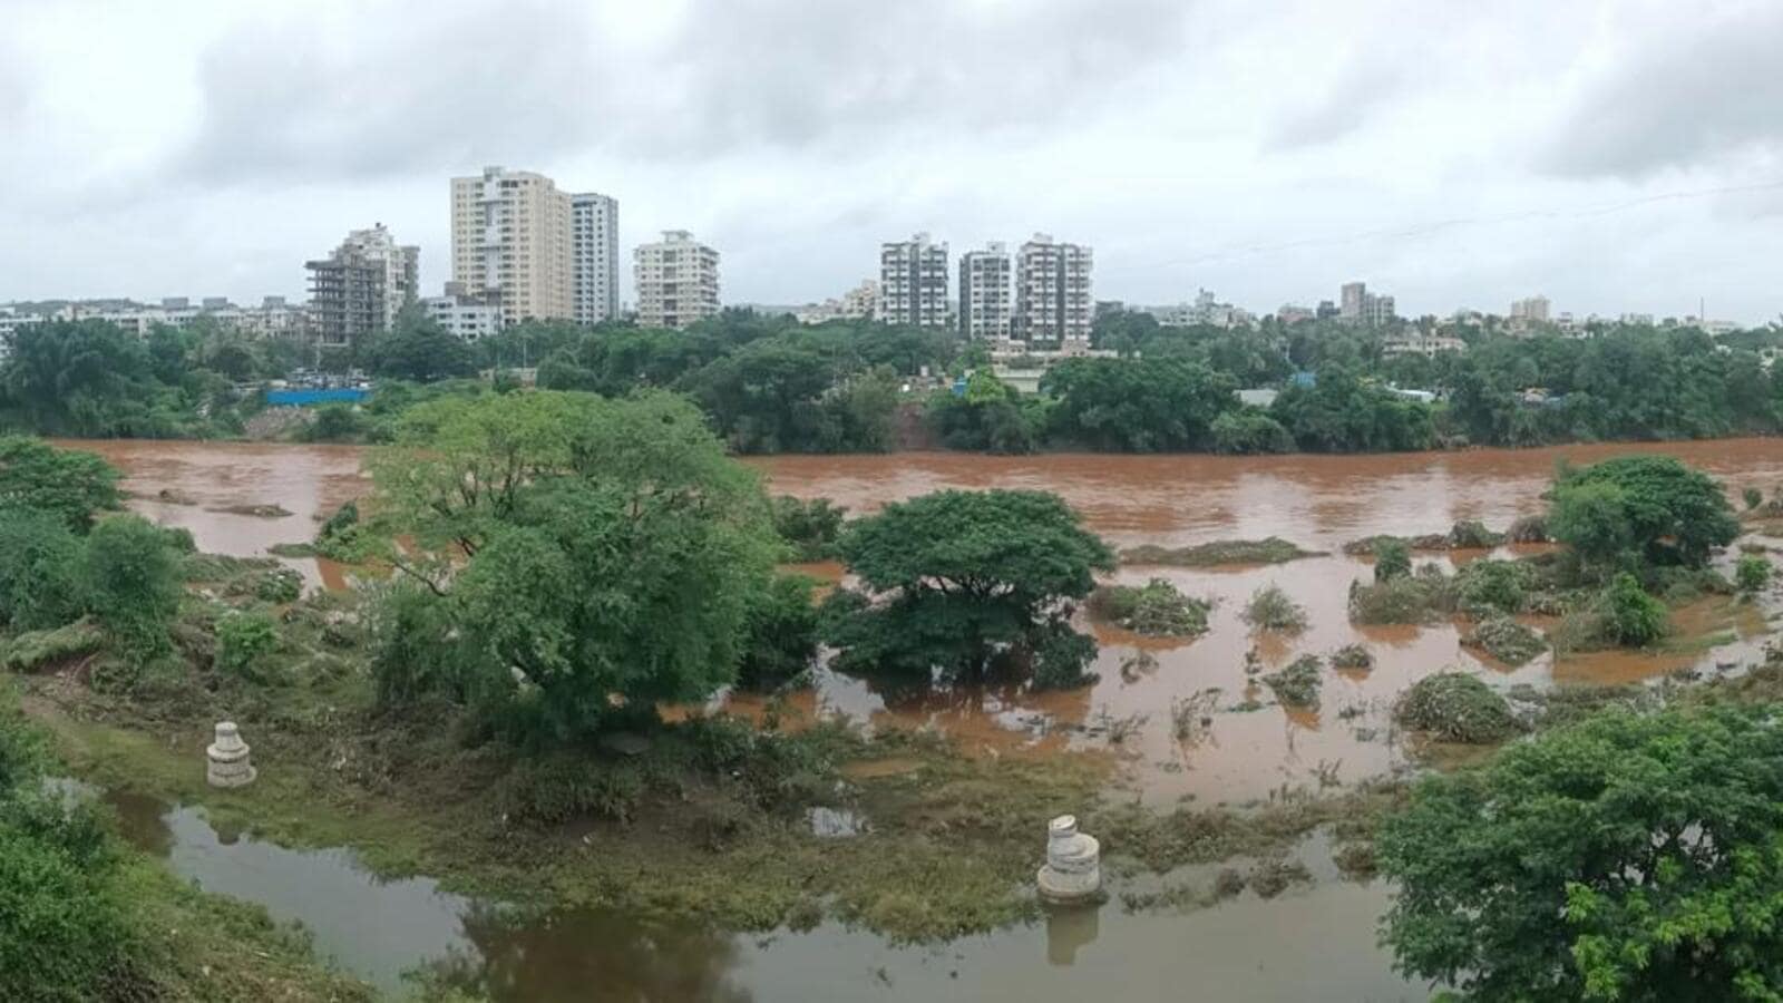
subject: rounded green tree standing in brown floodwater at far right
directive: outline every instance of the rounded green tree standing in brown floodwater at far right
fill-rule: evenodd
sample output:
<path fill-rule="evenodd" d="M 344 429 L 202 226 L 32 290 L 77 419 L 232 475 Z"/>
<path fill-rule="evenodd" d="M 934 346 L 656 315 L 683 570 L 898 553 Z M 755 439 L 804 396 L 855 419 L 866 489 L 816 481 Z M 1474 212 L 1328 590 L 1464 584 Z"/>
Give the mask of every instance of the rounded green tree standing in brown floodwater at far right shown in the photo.
<path fill-rule="evenodd" d="M 1548 532 L 1587 566 L 1708 564 L 1740 535 L 1726 494 L 1674 457 L 1615 457 L 1564 469 L 1553 489 Z"/>

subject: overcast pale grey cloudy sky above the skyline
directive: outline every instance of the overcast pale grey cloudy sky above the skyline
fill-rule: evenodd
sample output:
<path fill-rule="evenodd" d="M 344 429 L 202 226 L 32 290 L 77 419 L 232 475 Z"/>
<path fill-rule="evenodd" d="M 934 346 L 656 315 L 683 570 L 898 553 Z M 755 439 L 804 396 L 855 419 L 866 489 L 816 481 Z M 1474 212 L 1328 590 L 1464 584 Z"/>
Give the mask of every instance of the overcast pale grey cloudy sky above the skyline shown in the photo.
<path fill-rule="evenodd" d="M 1097 296 L 1774 319 L 1783 2 L 0 0 L 0 302 L 300 296 L 481 164 L 797 303 L 931 230 Z M 629 277 L 626 280 L 629 287 Z"/>

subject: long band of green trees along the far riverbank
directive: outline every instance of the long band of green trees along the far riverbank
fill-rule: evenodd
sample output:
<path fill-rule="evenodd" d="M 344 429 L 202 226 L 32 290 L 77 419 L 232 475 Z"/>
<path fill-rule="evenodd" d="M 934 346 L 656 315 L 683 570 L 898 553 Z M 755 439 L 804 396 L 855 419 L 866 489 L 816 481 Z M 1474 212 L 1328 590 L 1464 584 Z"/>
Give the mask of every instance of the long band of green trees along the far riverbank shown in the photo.
<path fill-rule="evenodd" d="M 1719 341 L 1651 327 L 1589 339 L 1469 337 L 1467 352 L 1432 359 L 1387 355 L 1380 332 L 1330 321 L 1164 328 L 1113 312 L 1097 321 L 1093 344 L 1116 357 L 1057 362 L 1038 394 L 1023 394 L 991 375 L 982 346 L 933 330 L 726 311 L 683 332 L 522 323 L 465 344 L 405 311 L 389 334 L 330 357 L 376 377 L 374 396 L 323 409 L 294 435 L 383 443 L 414 403 L 517 389 L 508 375 L 517 368 L 537 368 L 540 389 L 685 394 L 738 453 L 888 452 L 913 439 L 995 453 L 1352 453 L 1783 427 L 1783 373 L 1760 357 L 1783 341 L 1778 330 Z M 292 344 L 226 330 L 136 339 L 96 321 L 25 328 L 11 348 L 0 416 L 30 432 L 96 437 L 241 434 L 262 403 L 234 387 L 307 362 Z M 1239 402 L 1241 387 L 1278 393 L 1255 407 Z"/>

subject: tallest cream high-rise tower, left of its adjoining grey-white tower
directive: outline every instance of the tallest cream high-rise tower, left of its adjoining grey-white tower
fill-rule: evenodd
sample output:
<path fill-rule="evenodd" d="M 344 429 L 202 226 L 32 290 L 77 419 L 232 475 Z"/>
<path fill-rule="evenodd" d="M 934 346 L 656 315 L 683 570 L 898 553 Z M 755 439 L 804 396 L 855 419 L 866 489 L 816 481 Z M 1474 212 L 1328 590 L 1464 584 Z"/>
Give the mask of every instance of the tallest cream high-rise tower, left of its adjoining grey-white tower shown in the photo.
<path fill-rule="evenodd" d="M 501 323 L 572 319 L 571 196 L 531 171 L 451 178 L 451 278 Z"/>

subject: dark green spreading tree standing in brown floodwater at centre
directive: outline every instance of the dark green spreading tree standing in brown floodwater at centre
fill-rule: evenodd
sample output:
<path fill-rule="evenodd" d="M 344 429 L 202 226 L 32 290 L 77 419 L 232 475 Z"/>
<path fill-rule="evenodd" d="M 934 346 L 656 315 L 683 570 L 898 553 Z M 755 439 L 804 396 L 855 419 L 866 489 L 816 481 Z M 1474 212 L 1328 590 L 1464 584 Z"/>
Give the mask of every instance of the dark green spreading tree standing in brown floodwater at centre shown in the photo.
<path fill-rule="evenodd" d="M 1070 628 L 1109 548 L 1045 491 L 938 491 L 854 519 L 840 541 L 868 594 L 826 603 L 838 666 L 974 676 L 1027 669 L 1080 682 L 1095 642 Z"/>

